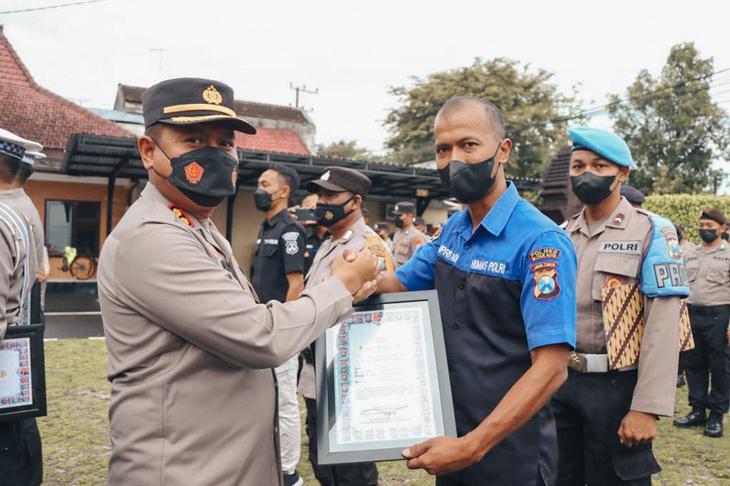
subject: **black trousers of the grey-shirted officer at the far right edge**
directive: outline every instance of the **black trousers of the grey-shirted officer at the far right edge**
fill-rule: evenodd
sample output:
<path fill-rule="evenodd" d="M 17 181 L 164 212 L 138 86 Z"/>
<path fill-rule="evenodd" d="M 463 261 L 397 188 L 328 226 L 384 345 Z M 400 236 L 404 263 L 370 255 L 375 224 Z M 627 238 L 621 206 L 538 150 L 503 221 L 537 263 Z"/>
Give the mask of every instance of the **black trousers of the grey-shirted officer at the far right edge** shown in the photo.
<path fill-rule="evenodd" d="M 683 353 L 683 363 L 687 372 L 689 404 L 693 408 L 718 414 L 728 412 L 730 378 L 726 364 L 726 333 L 729 318 L 730 305 L 689 307 L 694 349 Z"/>

